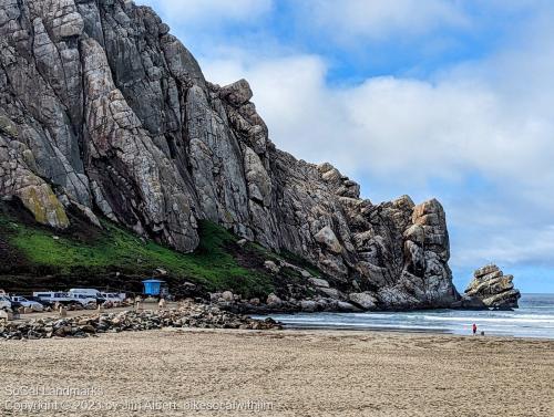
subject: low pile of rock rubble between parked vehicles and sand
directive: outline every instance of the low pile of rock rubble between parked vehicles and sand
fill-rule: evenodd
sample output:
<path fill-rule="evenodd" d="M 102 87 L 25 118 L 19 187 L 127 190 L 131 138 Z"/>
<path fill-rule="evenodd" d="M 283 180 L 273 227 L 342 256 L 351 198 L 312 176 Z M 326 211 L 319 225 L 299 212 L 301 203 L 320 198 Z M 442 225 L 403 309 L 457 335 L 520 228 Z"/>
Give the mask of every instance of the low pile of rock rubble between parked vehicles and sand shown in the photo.
<path fill-rule="evenodd" d="M 172 310 L 123 311 L 64 319 L 47 317 L 21 323 L 0 322 L 0 340 L 88 337 L 100 333 L 162 327 L 270 330 L 280 329 L 280 325 L 271 319 L 259 321 L 224 312 L 216 306 L 184 302 Z"/>

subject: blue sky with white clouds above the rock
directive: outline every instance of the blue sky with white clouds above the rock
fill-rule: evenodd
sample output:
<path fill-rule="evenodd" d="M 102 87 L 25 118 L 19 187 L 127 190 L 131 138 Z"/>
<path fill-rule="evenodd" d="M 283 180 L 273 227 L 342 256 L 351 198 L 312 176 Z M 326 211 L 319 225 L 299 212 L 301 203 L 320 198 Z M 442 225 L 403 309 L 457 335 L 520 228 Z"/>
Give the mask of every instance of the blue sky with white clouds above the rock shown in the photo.
<path fill-rule="evenodd" d="M 207 80 L 246 79 L 281 149 L 373 202 L 438 198 L 463 291 L 554 293 L 554 2 L 138 0 Z"/>

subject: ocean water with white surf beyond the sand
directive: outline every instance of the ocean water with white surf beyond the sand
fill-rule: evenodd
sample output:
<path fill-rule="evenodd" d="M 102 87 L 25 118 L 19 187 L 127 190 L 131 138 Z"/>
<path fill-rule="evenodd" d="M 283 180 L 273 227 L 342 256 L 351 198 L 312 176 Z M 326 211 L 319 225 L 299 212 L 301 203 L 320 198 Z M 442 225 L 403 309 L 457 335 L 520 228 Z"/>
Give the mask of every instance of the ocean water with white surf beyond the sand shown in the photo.
<path fill-rule="evenodd" d="M 514 311 L 422 310 L 417 312 L 274 314 L 289 329 L 351 329 L 404 332 L 478 333 L 554 338 L 554 294 L 522 294 Z"/>

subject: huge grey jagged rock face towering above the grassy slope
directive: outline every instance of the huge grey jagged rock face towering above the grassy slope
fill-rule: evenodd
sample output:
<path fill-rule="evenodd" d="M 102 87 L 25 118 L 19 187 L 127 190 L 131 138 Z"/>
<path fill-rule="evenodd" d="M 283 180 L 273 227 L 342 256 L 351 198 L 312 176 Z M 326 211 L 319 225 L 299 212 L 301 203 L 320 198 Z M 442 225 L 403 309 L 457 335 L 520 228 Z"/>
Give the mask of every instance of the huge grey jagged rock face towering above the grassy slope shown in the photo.
<path fill-rule="evenodd" d="M 373 205 L 276 149 L 248 83 L 206 82 L 150 8 L 0 0 L 0 191 L 38 221 L 65 227 L 76 205 L 191 251 L 209 219 L 317 263 L 361 305 L 458 298 L 437 200 Z"/>

